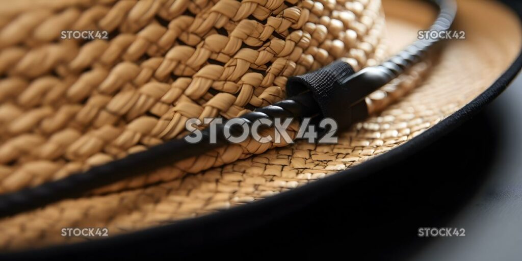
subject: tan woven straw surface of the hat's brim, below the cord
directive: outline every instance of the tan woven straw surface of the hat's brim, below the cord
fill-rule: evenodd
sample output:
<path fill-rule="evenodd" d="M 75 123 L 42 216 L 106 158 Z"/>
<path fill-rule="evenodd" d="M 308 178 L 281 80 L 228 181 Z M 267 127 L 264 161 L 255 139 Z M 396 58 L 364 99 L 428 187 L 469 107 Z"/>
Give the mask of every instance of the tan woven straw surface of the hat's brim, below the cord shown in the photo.
<path fill-rule="evenodd" d="M 472 7 L 476 1 L 462 0 L 459 4 Z M 402 5 L 400 1 L 390 2 L 394 5 L 386 6 L 386 10 L 394 11 L 396 17 L 407 16 L 408 8 L 412 8 L 410 2 Z M 486 7 L 488 12 L 483 16 L 477 16 L 472 8 L 461 8 L 456 29 L 466 30 L 468 39 L 448 44 L 429 72 L 426 70 L 429 63 L 421 63 L 373 93 L 369 97 L 370 108 L 379 111 L 389 101 L 387 94 L 408 91 L 422 82 L 400 102 L 340 134 L 338 144 L 296 143 L 223 167 L 180 175 L 170 182 L 63 200 L 1 220 L 0 247 L 12 249 L 84 240 L 62 237 L 60 230 L 66 227 L 108 227 L 110 235 L 115 235 L 205 215 L 313 182 L 396 148 L 477 97 L 512 62 L 505 57 L 515 57 L 518 53 L 521 33 L 517 18 L 506 16 L 499 6 Z M 424 18 L 429 17 L 421 11 L 414 15 L 417 16 L 413 25 L 396 17 L 387 20 L 393 35 L 390 41 L 393 51 L 414 39 Z M 491 20 L 496 24 L 490 23 Z M 513 39 L 503 37 L 497 26 L 513 32 Z M 490 35 L 491 41 L 483 41 L 482 33 Z M 462 73 L 464 70 L 466 74 Z M 452 157 L 449 154 L 441 156 L 443 164 Z M 163 171 L 170 173 L 172 168 Z"/>

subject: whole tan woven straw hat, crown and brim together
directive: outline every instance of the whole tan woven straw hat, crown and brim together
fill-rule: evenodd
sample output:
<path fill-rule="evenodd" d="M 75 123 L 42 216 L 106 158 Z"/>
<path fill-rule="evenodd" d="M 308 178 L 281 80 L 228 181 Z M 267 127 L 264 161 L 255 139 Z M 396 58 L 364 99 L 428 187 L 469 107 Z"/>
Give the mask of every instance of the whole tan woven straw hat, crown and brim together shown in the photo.
<path fill-rule="evenodd" d="M 0 248 L 88 241 L 63 236 L 63 228 L 106 228 L 109 237 L 123 237 L 181 226 L 176 221 L 240 211 L 267 197 L 274 202 L 288 194 L 281 192 L 327 184 L 328 176 L 361 173 L 412 153 L 420 141 L 440 137 L 492 100 L 521 66 L 522 30 L 512 10 L 485 0 L 458 5 L 454 29 L 466 39 L 447 41 L 372 93 L 372 115 L 340 133 L 337 144 L 228 145 L 5 217 Z M 180 138 L 188 118 L 233 118 L 275 103 L 286 98 L 290 76 L 339 58 L 354 70 L 377 65 L 416 40 L 435 17 L 430 5 L 404 0 L 2 6 L 1 193 Z M 62 39 L 64 30 L 106 31 L 108 39 Z M 392 99 L 397 90 L 401 94 Z M 381 154 L 386 158 L 373 159 Z"/>

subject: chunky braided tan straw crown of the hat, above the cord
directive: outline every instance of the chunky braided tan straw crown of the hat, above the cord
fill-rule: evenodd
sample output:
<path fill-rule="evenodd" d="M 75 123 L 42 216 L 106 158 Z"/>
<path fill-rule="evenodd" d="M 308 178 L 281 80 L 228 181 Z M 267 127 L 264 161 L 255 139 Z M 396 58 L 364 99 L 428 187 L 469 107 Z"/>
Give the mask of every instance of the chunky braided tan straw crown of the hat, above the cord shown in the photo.
<path fill-rule="evenodd" d="M 386 55 L 378 0 L 21 1 L 5 12 L 0 193 L 180 137 L 187 118 L 274 103 L 289 76 L 337 58 L 362 68 Z M 60 40 L 62 30 L 106 30 L 109 40 Z M 248 140 L 102 191 L 284 145 Z"/>

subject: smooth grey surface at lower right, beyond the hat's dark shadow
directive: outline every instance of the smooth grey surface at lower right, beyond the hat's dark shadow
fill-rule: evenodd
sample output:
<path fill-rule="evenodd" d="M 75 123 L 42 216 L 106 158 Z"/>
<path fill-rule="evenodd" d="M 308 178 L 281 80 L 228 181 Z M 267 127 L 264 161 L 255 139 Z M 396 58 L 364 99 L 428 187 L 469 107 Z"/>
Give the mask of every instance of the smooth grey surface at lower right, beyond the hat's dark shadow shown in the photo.
<path fill-rule="evenodd" d="M 425 243 L 416 260 L 521 260 L 522 259 L 522 77 L 501 94 L 473 122 L 448 138 L 476 140 L 477 149 L 457 146 L 441 151 L 440 160 L 457 153 L 476 155 L 468 170 L 451 170 L 448 181 L 456 198 L 470 198 L 448 221 L 426 222 L 426 227 L 466 229 L 465 238 L 417 239 Z M 468 129 L 476 125 L 477 129 Z M 482 126 L 481 126 L 482 125 Z M 493 131 L 494 128 L 494 131 Z M 463 133 L 464 132 L 464 133 Z M 454 150 L 457 149 L 457 150 Z M 435 157 L 435 154 L 433 154 Z M 473 159 L 474 158 L 474 159 Z M 476 171 L 476 169 L 478 169 Z M 482 170 L 482 171 L 481 171 Z M 454 186 L 453 186 L 454 187 Z M 432 194 L 432 193 L 430 193 Z M 436 197 L 436 194 L 433 193 Z"/>

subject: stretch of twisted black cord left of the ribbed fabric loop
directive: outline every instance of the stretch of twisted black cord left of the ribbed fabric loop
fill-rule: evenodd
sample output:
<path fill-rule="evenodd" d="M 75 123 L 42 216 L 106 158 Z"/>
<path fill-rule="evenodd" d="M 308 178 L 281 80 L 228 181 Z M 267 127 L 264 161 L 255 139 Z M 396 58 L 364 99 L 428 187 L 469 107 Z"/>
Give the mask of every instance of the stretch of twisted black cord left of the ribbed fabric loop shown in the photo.
<path fill-rule="evenodd" d="M 312 117 L 318 111 L 317 103 L 313 98 L 308 93 L 303 93 L 291 99 L 259 108 L 241 118 L 247 123 L 259 118 L 293 117 L 299 119 L 300 117 Z M 223 125 L 217 125 L 216 128 L 222 129 Z M 235 135 L 234 131 L 239 130 L 231 129 L 232 134 Z M 198 156 L 227 144 L 227 140 L 220 135 L 216 137 L 217 142 L 211 144 L 209 129 L 204 129 L 201 133 L 203 139 L 199 144 L 188 144 L 183 139 L 167 141 L 164 144 L 150 147 L 146 151 L 133 153 L 125 158 L 92 167 L 85 172 L 74 173 L 57 181 L 1 195 L 0 216 L 15 215 L 64 198 L 78 197 L 93 188 L 144 174 L 160 166 Z M 222 132 L 218 131 L 218 133 Z"/>

